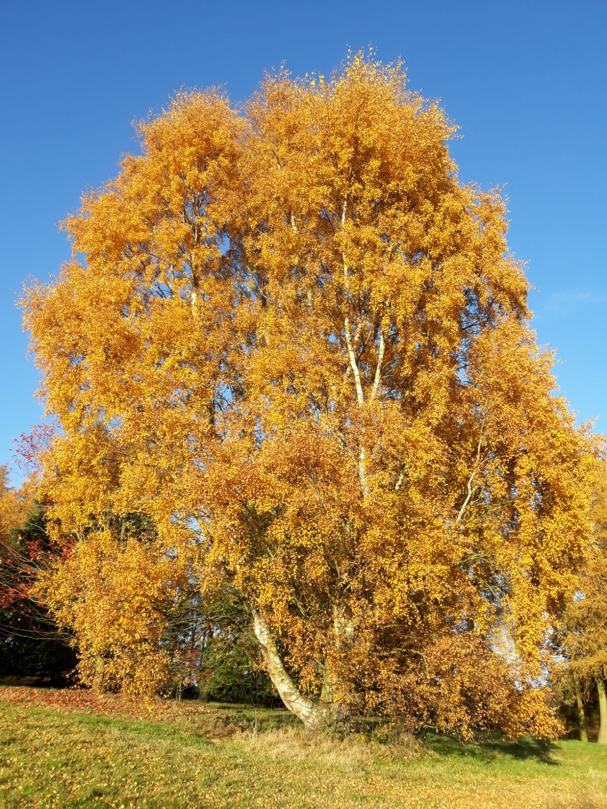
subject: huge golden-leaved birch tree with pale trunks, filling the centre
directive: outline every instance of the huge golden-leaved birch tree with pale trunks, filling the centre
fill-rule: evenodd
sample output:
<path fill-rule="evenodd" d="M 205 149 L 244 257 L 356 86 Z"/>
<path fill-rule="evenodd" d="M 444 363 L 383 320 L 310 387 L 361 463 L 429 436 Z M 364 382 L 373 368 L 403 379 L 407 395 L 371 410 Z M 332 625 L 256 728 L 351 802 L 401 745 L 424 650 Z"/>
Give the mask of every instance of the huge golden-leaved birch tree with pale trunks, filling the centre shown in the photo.
<path fill-rule="evenodd" d="M 455 127 L 357 54 L 266 76 L 241 112 L 177 95 L 137 131 L 65 222 L 73 260 L 23 294 L 61 425 L 50 514 L 80 537 L 57 614 L 95 648 L 140 633 L 113 676 L 155 688 L 145 605 L 178 567 L 204 597 L 239 591 L 309 726 L 366 707 L 554 732 L 533 682 L 595 462 Z M 106 547 L 131 512 L 158 545 Z"/>

